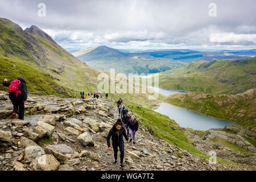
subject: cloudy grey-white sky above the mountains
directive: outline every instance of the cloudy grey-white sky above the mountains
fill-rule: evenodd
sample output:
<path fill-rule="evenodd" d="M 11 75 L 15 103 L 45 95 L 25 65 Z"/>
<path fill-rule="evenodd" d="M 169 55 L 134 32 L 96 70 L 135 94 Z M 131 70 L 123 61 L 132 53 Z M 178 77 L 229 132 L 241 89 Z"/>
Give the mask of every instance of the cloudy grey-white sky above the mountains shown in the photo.
<path fill-rule="evenodd" d="M 1 18 L 38 26 L 66 49 L 256 48 L 255 10 L 255 0 L 0 0 Z"/>

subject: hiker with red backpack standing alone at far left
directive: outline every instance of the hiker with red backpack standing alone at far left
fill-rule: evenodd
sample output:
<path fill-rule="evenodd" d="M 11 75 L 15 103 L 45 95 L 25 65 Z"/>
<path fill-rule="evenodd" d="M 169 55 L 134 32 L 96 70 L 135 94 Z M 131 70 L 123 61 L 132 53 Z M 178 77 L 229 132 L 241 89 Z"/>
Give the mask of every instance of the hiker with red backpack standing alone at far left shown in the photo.
<path fill-rule="evenodd" d="M 11 119 L 14 119 L 19 110 L 19 119 L 24 119 L 24 104 L 27 101 L 27 84 L 23 76 L 8 81 L 6 78 L 3 80 L 3 86 L 9 86 L 9 98 L 13 103 L 13 114 Z"/>

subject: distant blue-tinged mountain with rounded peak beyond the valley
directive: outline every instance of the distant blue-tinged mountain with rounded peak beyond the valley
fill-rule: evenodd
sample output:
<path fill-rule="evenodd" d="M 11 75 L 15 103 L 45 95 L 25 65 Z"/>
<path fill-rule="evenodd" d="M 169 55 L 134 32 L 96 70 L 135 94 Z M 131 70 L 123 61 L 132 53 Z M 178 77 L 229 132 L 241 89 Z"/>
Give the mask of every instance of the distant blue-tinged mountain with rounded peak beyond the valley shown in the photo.
<path fill-rule="evenodd" d="M 125 74 L 164 72 L 184 65 L 180 61 L 172 59 L 143 55 L 136 56 L 106 46 L 84 49 L 73 53 L 73 55 L 93 68 L 105 71 L 115 68 L 115 72 Z"/>

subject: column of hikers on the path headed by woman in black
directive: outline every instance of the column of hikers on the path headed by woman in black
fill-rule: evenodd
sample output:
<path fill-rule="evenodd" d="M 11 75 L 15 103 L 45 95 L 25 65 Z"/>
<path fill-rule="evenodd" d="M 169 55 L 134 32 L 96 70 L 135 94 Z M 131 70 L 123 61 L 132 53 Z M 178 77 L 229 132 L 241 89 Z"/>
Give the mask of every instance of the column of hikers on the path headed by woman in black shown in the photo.
<path fill-rule="evenodd" d="M 135 118 L 135 115 L 131 115 L 131 112 L 126 109 L 125 105 L 123 104 L 122 98 L 117 101 L 117 107 L 119 111 L 119 117 L 117 122 L 109 131 L 107 137 L 107 143 L 109 151 L 112 150 L 110 146 L 110 138 L 112 138 L 112 146 L 114 150 L 114 164 L 117 164 L 117 151 L 118 147 L 120 150 L 120 167 L 124 168 L 123 166 L 123 158 L 125 156 L 125 145 L 123 142 L 123 137 L 125 137 L 127 143 L 132 142 L 135 144 L 135 134 L 139 129 L 139 122 Z M 126 134 L 127 131 L 127 134 Z M 129 138 L 130 137 L 130 141 Z"/>

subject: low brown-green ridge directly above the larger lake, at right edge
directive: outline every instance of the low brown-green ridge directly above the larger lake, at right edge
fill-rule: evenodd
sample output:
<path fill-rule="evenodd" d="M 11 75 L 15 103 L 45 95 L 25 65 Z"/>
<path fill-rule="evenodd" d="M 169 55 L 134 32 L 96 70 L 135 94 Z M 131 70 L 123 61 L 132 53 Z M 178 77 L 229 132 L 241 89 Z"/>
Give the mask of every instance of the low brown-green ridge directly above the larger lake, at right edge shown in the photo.
<path fill-rule="evenodd" d="M 256 129 L 256 89 L 237 95 L 218 96 L 190 92 L 168 96 L 165 101 L 197 113 L 232 121 L 247 129 Z"/>

